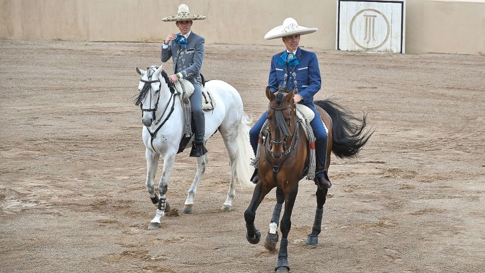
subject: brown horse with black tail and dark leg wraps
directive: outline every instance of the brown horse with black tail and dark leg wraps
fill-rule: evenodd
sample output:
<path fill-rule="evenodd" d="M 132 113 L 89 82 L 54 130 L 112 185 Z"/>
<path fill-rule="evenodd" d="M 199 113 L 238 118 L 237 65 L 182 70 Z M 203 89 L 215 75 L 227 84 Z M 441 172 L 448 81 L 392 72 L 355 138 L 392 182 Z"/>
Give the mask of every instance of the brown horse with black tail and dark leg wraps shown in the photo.
<path fill-rule="evenodd" d="M 272 93 L 266 88 L 269 99 L 267 112 L 268 126 L 260 137 L 259 151 L 259 181 L 253 193 L 253 199 L 245 211 L 247 235 L 251 244 L 259 243 L 261 233 L 254 225 L 256 209 L 263 198 L 276 187 L 276 205 L 270 221 L 270 230 L 266 236 L 265 248 L 274 250 L 278 242 L 277 227 L 284 202 L 284 214 L 281 219 L 280 230 L 282 239 L 279 247 L 276 272 L 288 272 L 287 260 L 288 233 L 291 228 L 291 215 L 298 193 L 298 183 L 308 172 L 310 149 L 315 149 L 314 143 L 307 141 L 301 123 L 297 121 L 293 96 L 295 90 L 288 92 L 286 88 L 279 88 Z M 363 119 L 354 117 L 342 106 L 329 100 L 315 101 L 315 108 L 325 126 L 328 128 L 328 145 L 325 170 L 330 165 L 330 154 L 337 157 L 356 156 L 360 148 L 368 141 L 372 132 L 364 132 L 366 116 Z M 318 117 L 315 117 L 318 118 Z M 353 121 L 357 121 L 356 124 Z M 264 127 L 263 127 L 264 129 Z M 319 166 L 322 170 L 323 166 Z M 316 178 L 315 178 L 316 179 Z M 328 189 L 317 185 L 317 209 L 312 233 L 307 237 L 307 245 L 318 245 L 318 235 L 321 231 L 323 204 Z"/>

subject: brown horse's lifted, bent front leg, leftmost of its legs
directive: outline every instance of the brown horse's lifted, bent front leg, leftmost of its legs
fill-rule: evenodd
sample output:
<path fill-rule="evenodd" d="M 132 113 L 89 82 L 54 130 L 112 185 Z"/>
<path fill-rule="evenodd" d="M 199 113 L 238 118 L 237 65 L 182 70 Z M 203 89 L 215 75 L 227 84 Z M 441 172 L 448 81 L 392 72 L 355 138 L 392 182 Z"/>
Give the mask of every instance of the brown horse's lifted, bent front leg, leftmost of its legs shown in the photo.
<path fill-rule="evenodd" d="M 254 188 L 253 199 L 251 199 L 248 209 L 246 209 L 244 212 L 247 230 L 246 239 L 251 244 L 257 244 L 261 239 L 261 233 L 256 229 L 254 219 L 256 217 L 256 210 L 263 201 L 263 198 L 269 193 L 269 191 L 271 191 L 272 188 L 274 188 L 274 186 L 270 187 L 266 183 L 263 185 L 262 181 L 260 180 Z"/>

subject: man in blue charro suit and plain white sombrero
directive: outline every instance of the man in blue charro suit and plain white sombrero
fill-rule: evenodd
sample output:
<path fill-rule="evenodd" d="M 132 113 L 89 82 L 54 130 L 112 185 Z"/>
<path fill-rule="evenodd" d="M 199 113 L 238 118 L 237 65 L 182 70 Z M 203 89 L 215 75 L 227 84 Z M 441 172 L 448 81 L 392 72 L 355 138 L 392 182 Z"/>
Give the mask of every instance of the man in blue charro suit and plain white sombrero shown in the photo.
<path fill-rule="evenodd" d="M 269 71 L 268 87 L 275 92 L 278 87 L 287 87 L 288 90 L 295 88 L 295 103 L 304 104 L 312 109 L 315 118 L 310 122 L 315 134 L 315 153 L 317 161 L 322 169 L 316 173 L 318 183 L 323 188 L 330 188 L 331 183 L 325 170 L 325 159 L 327 151 L 327 132 L 323 122 L 313 105 L 313 96 L 320 90 L 322 79 L 318 59 L 315 53 L 299 48 L 300 36 L 317 31 L 316 28 L 299 26 L 293 18 L 286 18 L 283 25 L 270 30 L 265 39 L 281 37 L 286 50 L 273 55 L 271 58 L 271 69 Z M 256 154 L 258 147 L 258 135 L 266 121 L 266 112 L 254 124 L 250 131 L 251 146 Z M 253 183 L 259 180 L 258 170 L 253 175 Z"/>

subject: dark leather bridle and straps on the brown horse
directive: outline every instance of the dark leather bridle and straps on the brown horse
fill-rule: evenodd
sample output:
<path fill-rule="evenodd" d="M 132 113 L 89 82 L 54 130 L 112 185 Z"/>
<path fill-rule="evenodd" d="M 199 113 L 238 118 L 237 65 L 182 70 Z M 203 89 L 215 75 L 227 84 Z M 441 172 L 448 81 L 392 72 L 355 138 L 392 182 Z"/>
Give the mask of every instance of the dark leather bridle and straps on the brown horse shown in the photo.
<path fill-rule="evenodd" d="M 284 138 L 281 141 L 274 141 L 271 138 L 271 131 L 268 131 L 268 151 L 273 159 L 280 159 L 282 156 L 284 156 L 283 160 L 279 162 L 278 164 L 274 165 L 272 161 L 270 160 L 266 149 L 264 149 L 264 155 L 266 156 L 266 160 L 271 164 L 273 167 L 274 172 L 278 172 L 279 168 L 284 164 L 284 162 L 293 154 L 293 152 L 296 150 L 297 145 L 298 145 L 298 140 L 300 138 L 299 136 L 299 125 L 300 122 L 296 119 L 295 116 L 295 129 L 293 130 L 293 133 L 289 131 L 289 126 L 291 125 L 293 115 L 296 115 L 296 110 L 290 110 L 290 119 L 288 123 L 284 121 L 284 118 L 282 116 L 283 110 L 286 110 L 288 108 L 291 108 L 291 105 L 287 105 L 285 107 L 274 107 L 271 105 L 271 103 L 268 105 L 269 108 L 275 110 L 275 117 L 276 117 L 276 124 L 277 124 L 277 129 L 279 130 L 280 134 L 284 135 Z M 278 114 L 279 112 L 279 114 Z M 294 113 L 295 112 L 295 113 Z M 292 136 L 292 141 L 290 142 L 289 147 L 286 147 L 286 143 L 288 140 L 288 136 Z M 283 145 L 283 153 L 279 157 L 275 157 L 273 152 L 271 151 L 273 148 L 273 145 Z"/>

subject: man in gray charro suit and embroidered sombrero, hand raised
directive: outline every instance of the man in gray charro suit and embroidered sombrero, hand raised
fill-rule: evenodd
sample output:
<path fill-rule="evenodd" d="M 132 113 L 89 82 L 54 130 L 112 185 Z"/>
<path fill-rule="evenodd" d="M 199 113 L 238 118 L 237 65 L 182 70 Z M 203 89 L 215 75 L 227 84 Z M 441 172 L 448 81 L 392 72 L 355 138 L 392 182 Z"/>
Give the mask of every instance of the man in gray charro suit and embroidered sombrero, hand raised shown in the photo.
<path fill-rule="evenodd" d="M 169 76 L 172 82 L 178 79 L 186 79 L 195 88 L 190 96 L 190 105 L 195 121 L 196 135 L 192 142 L 190 156 L 202 156 L 207 150 L 204 147 L 205 118 L 202 111 L 202 78 L 201 68 L 204 60 L 204 37 L 193 33 L 190 28 L 192 20 L 204 20 L 206 17 L 190 14 L 187 5 L 178 7 L 177 15 L 165 17 L 162 21 L 175 21 L 180 30 L 177 34 L 168 34 L 163 42 L 160 60 L 166 62 L 172 57 L 172 72 Z"/>

